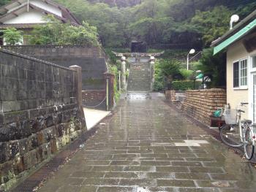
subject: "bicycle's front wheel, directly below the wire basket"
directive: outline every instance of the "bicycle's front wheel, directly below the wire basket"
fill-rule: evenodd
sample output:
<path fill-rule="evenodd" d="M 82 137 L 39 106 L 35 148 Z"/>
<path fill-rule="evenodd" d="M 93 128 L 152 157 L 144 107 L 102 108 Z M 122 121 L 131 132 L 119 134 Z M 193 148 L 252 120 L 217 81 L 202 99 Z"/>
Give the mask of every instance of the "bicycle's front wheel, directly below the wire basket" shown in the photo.
<path fill-rule="evenodd" d="M 230 147 L 241 147 L 244 143 L 241 141 L 238 125 L 224 125 L 219 129 L 219 136 L 226 145 Z"/>

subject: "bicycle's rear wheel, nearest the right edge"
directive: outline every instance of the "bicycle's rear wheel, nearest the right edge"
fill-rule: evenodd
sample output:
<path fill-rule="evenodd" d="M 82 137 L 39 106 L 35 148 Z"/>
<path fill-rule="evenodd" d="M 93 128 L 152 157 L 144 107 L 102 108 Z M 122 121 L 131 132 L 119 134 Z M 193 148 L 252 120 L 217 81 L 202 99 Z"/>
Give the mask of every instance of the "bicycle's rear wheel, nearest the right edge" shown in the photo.
<path fill-rule="evenodd" d="M 253 157 L 253 154 L 255 153 L 255 146 L 253 145 L 253 133 L 251 128 L 247 127 L 245 132 L 244 132 L 244 153 L 245 157 L 248 160 L 251 160 Z"/>

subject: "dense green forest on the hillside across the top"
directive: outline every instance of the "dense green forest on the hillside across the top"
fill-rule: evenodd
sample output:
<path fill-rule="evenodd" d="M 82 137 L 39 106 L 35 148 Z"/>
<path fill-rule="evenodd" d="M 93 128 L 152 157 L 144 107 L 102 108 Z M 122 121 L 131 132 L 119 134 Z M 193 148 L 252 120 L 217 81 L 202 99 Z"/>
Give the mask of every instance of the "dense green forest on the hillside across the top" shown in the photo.
<path fill-rule="evenodd" d="M 132 39 L 148 45 L 208 47 L 228 30 L 232 14 L 242 19 L 256 8 L 255 0 L 55 1 L 97 26 L 104 47 L 129 47 Z"/>

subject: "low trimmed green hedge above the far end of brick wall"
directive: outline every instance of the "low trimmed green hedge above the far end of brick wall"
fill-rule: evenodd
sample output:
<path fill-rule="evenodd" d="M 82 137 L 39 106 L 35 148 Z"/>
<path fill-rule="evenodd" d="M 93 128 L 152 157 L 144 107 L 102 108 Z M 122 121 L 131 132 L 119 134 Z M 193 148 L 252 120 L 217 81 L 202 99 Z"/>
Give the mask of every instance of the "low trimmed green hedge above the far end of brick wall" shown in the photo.
<path fill-rule="evenodd" d="M 199 88 L 202 82 L 195 82 L 195 89 Z M 171 83 L 171 88 L 176 91 L 186 91 L 194 89 L 194 81 L 184 80 L 184 81 L 173 81 Z"/>

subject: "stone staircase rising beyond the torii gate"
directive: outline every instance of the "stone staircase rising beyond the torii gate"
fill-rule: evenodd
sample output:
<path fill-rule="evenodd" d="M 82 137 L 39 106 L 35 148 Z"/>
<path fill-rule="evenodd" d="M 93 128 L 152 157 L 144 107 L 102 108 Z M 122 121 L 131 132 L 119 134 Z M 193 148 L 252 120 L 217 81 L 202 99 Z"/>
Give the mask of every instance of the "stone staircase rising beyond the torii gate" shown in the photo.
<path fill-rule="evenodd" d="M 127 92 L 151 91 L 151 74 L 149 64 L 131 64 Z"/>

